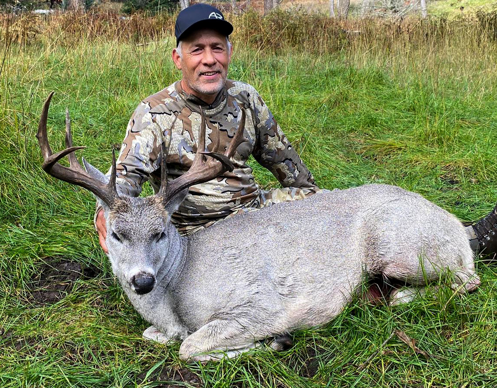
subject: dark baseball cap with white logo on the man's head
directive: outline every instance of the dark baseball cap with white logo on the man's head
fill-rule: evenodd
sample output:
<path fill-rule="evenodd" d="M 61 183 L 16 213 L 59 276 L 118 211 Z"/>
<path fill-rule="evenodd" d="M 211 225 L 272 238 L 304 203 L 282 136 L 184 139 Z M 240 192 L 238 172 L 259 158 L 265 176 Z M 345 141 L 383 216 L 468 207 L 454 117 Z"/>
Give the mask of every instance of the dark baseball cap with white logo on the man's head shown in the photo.
<path fill-rule="evenodd" d="M 176 46 L 181 37 L 199 28 L 212 28 L 223 35 L 229 36 L 233 32 L 231 23 L 224 19 L 219 9 L 209 4 L 194 4 L 179 12 L 174 26 Z"/>

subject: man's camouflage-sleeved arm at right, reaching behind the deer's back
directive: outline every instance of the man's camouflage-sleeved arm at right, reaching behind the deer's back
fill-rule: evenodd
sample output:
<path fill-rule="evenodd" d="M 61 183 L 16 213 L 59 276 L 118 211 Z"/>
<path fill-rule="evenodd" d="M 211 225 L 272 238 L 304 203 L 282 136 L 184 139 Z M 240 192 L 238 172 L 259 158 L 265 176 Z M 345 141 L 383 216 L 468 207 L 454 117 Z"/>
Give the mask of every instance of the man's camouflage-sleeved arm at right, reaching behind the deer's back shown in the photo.
<path fill-rule="evenodd" d="M 255 96 L 253 109 L 257 133 L 253 151 L 255 160 L 271 171 L 283 187 L 318 188 L 311 172 L 259 95 Z"/>

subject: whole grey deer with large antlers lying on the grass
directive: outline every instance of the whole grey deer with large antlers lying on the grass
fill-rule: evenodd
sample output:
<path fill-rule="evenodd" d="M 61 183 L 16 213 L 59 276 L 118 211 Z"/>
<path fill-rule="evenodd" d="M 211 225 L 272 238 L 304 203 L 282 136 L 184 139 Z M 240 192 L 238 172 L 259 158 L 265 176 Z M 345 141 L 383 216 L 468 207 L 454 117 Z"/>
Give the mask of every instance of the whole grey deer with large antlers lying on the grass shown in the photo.
<path fill-rule="evenodd" d="M 221 153 L 219 144 L 211 151 L 205 147 L 202 114 L 191 168 L 167 182 L 163 144 L 160 190 L 132 198 L 117 192 L 114 152 L 110 177 L 84 158 L 84 168 L 79 163 L 75 151 L 84 147 L 73 146 L 68 110 L 66 149 L 52 153 L 47 116 L 53 93 L 36 135 L 42 168 L 89 190 L 102 204 L 112 271 L 135 310 L 152 324 L 143 336 L 182 341 L 180 359 L 219 360 L 258 347 L 282 350 L 288 333 L 330 322 L 367 279 L 404 283 L 390 296 L 394 305 L 413 300 L 441 276 L 449 276 L 454 292 L 480 284 L 461 222 L 421 195 L 385 184 L 324 190 L 180 236 L 171 214 L 191 185 L 233 169 L 230 158 L 245 140 L 245 115 Z M 64 156 L 69 167 L 59 163 Z"/>

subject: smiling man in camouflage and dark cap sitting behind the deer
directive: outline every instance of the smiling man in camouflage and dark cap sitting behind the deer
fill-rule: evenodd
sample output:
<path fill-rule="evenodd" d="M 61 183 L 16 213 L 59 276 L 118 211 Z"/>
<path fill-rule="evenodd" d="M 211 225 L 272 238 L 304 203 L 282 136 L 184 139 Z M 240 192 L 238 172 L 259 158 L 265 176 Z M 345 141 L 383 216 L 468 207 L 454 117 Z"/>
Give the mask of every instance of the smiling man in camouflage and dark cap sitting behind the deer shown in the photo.
<path fill-rule="evenodd" d="M 233 53 L 228 37 L 232 31 L 233 26 L 221 11 L 211 5 L 195 4 L 179 13 L 172 60 L 182 78 L 136 108 L 117 160 L 119 191 L 138 196 L 141 185 L 150 179 L 157 192 L 163 142 L 169 144 L 168 179 L 174 179 L 188 170 L 197 151 L 201 109 L 206 115 L 209 151 L 209 144 L 218 140 L 220 150 L 227 147 L 245 111 L 244 135 L 248 141 L 234 156 L 235 170 L 189 188 L 171 218 L 182 234 L 194 233 L 240 212 L 319 192 L 257 91 L 246 83 L 227 79 Z M 261 190 L 247 165 L 249 155 L 268 168 L 284 188 Z M 99 208 L 95 227 L 100 245 L 107 252 L 105 219 Z M 497 251 L 496 209 L 467 230 L 474 250 Z"/>

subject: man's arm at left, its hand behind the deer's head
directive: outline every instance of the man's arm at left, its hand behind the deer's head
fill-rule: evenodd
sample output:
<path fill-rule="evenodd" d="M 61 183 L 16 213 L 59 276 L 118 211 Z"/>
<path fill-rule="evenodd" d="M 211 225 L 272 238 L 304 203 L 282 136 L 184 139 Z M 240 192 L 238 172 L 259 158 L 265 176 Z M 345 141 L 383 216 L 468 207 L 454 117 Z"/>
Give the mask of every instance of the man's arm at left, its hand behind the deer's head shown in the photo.
<path fill-rule="evenodd" d="M 150 173 L 157 169 L 162 144 L 161 129 L 153 120 L 148 102 L 141 102 L 129 120 L 119 156 L 116 161 L 116 188 L 119 193 L 137 197 Z M 110 175 L 111 168 L 107 172 Z M 93 218 L 100 246 L 108 253 L 105 238 L 106 221 L 102 206 L 96 204 Z"/>

